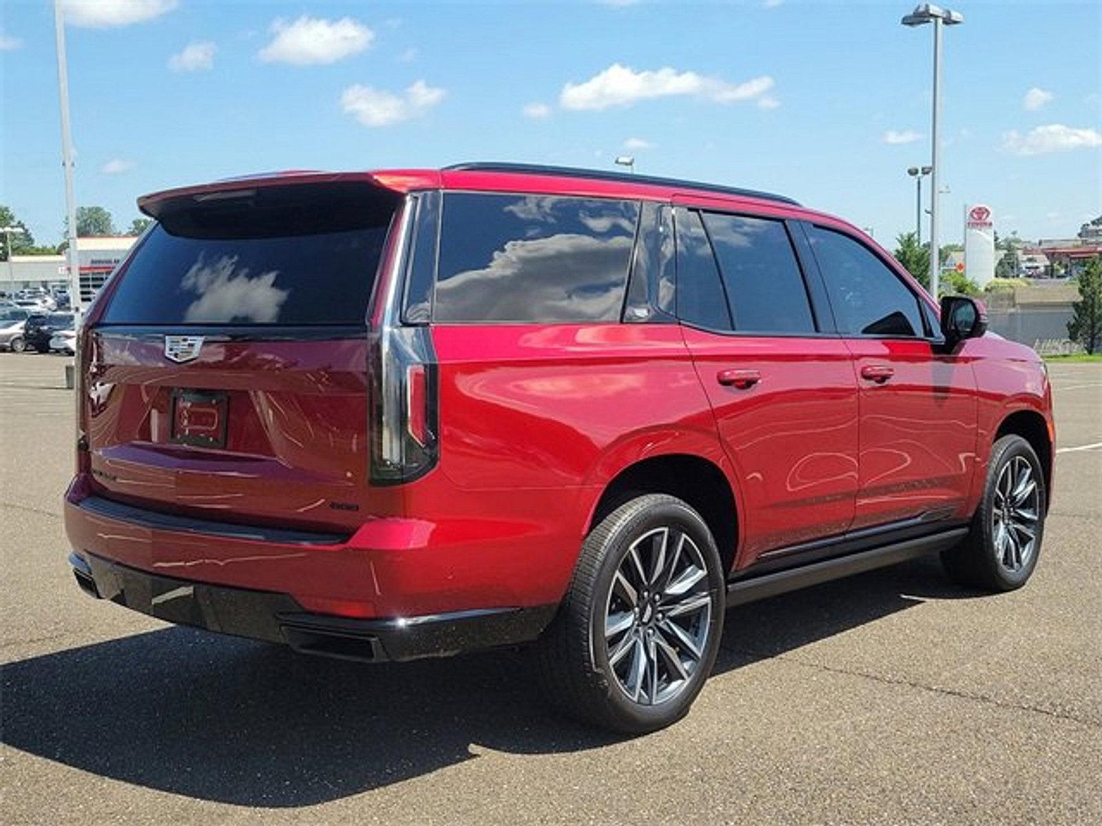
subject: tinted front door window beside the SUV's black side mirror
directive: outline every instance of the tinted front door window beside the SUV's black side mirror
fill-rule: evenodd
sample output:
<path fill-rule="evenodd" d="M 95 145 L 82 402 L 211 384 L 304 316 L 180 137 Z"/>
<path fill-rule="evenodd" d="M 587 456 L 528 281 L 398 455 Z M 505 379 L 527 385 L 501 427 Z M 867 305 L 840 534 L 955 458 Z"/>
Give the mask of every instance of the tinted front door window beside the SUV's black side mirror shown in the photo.
<path fill-rule="evenodd" d="M 918 336 L 918 297 L 863 244 L 841 232 L 808 227 L 839 330 L 861 336 Z"/>

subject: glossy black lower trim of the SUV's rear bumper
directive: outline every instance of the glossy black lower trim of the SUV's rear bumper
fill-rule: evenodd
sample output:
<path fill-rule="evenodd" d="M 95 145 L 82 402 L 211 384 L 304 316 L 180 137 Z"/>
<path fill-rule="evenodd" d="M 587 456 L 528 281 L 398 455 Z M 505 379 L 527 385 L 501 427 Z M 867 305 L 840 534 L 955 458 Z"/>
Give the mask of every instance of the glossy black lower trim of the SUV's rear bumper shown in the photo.
<path fill-rule="evenodd" d="M 539 606 L 348 619 L 304 611 L 287 594 L 158 576 L 94 554 L 69 554 L 69 565 L 86 594 L 166 622 L 365 662 L 450 656 L 528 642 L 555 611 L 555 606 Z"/>

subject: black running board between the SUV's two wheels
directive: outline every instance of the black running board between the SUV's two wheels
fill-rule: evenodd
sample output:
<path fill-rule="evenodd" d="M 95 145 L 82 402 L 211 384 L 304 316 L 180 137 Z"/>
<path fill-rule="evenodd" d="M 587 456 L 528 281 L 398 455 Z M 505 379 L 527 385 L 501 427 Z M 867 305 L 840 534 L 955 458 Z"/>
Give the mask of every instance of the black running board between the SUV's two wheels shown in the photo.
<path fill-rule="evenodd" d="M 904 540 L 872 551 L 838 556 L 833 559 L 778 570 L 775 574 L 749 576 L 727 584 L 727 607 L 753 602 L 756 599 L 774 597 L 778 594 L 807 588 L 831 579 L 841 579 L 853 574 L 883 568 L 926 554 L 947 551 L 968 534 L 968 528 L 955 528 L 931 536 Z"/>

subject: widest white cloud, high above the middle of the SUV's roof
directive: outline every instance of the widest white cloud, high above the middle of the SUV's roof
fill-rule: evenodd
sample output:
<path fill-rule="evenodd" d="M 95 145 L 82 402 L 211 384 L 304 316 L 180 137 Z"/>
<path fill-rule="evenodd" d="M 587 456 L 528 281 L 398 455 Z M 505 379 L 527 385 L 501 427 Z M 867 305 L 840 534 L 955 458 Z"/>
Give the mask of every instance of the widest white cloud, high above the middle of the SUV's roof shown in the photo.
<path fill-rule="evenodd" d="M 614 63 L 581 84 L 568 83 L 559 96 L 564 109 L 601 110 L 613 106 L 633 106 L 640 100 L 672 96 L 699 97 L 720 104 L 752 100 L 771 89 L 771 77 L 755 77 L 732 84 L 695 72 L 665 67 L 636 72 Z"/>

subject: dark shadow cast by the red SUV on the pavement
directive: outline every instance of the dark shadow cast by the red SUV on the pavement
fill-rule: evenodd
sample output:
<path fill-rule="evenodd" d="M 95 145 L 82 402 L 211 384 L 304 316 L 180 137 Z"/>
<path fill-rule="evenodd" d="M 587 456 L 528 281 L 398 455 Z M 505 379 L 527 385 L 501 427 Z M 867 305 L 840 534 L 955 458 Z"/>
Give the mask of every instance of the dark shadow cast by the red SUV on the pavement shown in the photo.
<path fill-rule="evenodd" d="M 743 606 L 714 673 L 923 597 L 964 596 L 918 562 Z M 515 651 L 364 665 L 168 628 L 4 665 L 0 739 L 126 783 L 270 808 L 421 776 L 479 747 L 550 753 L 616 740 L 553 716 L 526 665 Z"/>

